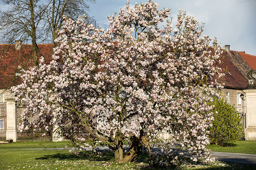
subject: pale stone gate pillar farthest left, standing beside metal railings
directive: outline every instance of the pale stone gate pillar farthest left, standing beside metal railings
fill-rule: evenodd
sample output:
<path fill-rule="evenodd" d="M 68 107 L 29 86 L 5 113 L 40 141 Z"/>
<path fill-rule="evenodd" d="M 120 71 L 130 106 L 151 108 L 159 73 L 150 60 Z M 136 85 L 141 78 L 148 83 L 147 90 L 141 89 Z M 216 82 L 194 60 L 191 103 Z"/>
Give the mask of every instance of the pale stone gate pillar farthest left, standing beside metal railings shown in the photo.
<path fill-rule="evenodd" d="M 6 99 L 6 109 L 7 109 L 7 129 L 6 129 L 6 140 L 13 139 L 16 142 L 16 109 L 15 109 L 15 99 Z"/>

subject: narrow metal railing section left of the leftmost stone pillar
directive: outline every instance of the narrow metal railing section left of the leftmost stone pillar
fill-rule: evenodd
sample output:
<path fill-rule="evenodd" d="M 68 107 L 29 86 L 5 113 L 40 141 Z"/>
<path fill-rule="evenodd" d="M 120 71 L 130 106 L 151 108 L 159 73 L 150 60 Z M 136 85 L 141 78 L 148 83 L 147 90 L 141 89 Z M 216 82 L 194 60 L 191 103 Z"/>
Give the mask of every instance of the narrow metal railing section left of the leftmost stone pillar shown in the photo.
<path fill-rule="evenodd" d="M 7 108 L 6 102 L 0 102 L 0 139 L 6 139 L 6 129 L 7 129 Z"/>

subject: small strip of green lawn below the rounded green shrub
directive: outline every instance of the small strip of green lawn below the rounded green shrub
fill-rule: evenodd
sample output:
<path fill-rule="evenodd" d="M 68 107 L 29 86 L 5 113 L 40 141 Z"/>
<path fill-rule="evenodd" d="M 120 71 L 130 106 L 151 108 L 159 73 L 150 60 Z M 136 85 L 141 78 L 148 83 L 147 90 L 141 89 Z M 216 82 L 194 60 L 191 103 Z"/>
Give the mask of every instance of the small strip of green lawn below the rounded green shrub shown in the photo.
<path fill-rule="evenodd" d="M 214 152 L 230 152 L 240 154 L 256 154 L 256 141 L 237 141 L 233 146 L 222 147 L 218 145 L 210 145 L 207 148 Z"/>

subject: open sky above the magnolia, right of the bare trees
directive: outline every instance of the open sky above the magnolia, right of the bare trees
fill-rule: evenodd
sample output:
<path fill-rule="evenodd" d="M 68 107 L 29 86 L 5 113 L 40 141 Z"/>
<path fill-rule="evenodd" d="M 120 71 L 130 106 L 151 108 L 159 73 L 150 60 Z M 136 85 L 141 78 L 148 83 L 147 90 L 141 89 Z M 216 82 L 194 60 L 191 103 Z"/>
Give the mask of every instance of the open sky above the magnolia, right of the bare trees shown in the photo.
<path fill-rule="evenodd" d="M 147 0 L 130 0 L 130 5 Z M 256 56 L 256 1 L 255 0 L 155 0 L 159 9 L 170 8 L 175 18 L 179 9 L 187 11 L 199 22 L 204 22 L 204 35 L 217 37 L 221 46 L 230 50 L 245 51 Z M 102 28 L 108 25 L 107 16 L 125 7 L 127 0 L 96 0 L 90 4 L 89 14 Z M 173 23 L 174 24 L 174 23 Z"/>

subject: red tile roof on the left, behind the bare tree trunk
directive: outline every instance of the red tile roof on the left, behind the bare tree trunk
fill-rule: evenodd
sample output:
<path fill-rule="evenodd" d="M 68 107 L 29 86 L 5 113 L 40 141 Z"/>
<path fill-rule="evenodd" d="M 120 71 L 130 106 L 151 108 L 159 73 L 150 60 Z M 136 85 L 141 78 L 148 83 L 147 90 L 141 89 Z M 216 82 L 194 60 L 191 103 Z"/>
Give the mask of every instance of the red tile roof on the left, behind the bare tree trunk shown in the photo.
<path fill-rule="evenodd" d="M 49 63 L 52 58 L 52 44 L 39 44 L 39 50 Z M 28 68 L 33 66 L 32 45 L 22 44 L 20 50 L 15 49 L 15 44 L 0 44 L 0 89 L 10 88 L 19 83 L 15 73 L 18 66 Z"/>

